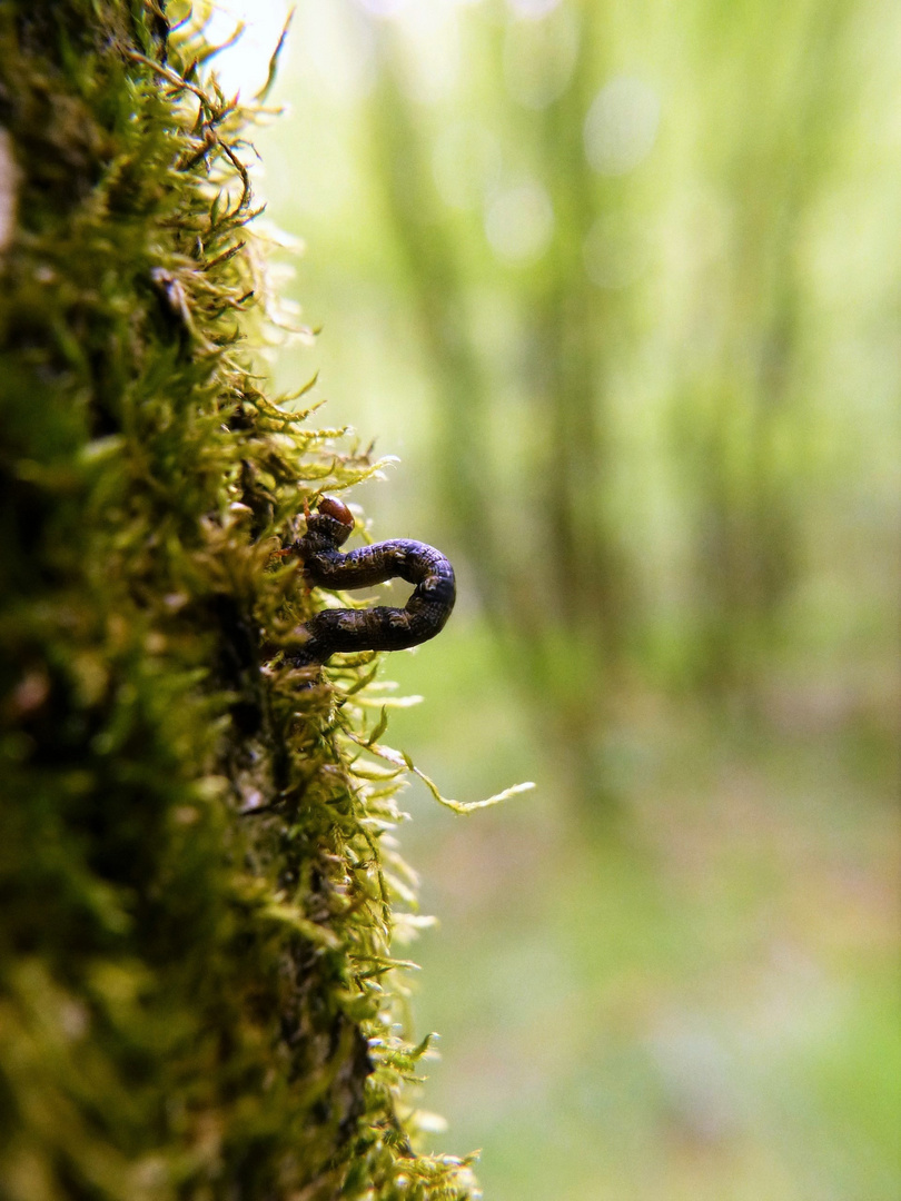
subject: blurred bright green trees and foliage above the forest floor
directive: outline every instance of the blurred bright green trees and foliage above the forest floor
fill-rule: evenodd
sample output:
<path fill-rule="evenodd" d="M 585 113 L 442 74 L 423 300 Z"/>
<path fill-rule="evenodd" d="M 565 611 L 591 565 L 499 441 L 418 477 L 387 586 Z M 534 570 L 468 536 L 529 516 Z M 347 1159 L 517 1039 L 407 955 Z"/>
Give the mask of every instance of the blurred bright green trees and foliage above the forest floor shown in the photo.
<path fill-rule="evenodd" d="M 885 637 L 889 30 L 851 0 L 299 6 L 269 186 L 329 264 L 326 343 L 359 346 L 329 390 L 416 447 L 395 497 L 592 805 L 623 682 L 753 710 L 783 653 Z"/>

